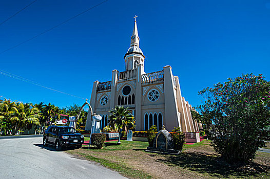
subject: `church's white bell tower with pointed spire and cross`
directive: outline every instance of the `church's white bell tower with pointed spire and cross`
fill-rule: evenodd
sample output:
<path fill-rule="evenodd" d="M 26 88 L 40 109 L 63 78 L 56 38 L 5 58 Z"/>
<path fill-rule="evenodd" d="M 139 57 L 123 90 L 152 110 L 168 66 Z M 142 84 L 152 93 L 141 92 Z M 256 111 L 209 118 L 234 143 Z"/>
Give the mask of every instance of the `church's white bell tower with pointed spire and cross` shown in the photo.
<path fill-rule="evenodd" d="M 143 51 L 139 48 L 140 46 L 140 37 L 138 34 L 137 27 L 137 15 L 134 17 L 134 28 L 131 35 L 130 48 L 124 56 L 125 59 L 125 71 L 133 70 L 137 68 L 137 64 L 142 64 L 144 72 L 144 59 Z"/>

